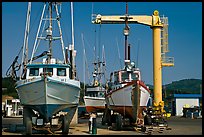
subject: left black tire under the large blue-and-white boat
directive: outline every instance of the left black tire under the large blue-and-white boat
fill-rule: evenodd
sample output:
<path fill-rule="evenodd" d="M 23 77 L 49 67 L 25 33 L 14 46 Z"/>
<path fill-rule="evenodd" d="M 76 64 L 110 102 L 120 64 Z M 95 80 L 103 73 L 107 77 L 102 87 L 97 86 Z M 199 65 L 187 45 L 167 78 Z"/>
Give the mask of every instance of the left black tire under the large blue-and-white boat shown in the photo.
<path fill-rule="evenodd" d="M 31 120 L 31 113 L 28 108 L 23 109 L 23 121 L 25 126 L 25 134 L 31 135 L 32 134 L 32 120 Z"/>

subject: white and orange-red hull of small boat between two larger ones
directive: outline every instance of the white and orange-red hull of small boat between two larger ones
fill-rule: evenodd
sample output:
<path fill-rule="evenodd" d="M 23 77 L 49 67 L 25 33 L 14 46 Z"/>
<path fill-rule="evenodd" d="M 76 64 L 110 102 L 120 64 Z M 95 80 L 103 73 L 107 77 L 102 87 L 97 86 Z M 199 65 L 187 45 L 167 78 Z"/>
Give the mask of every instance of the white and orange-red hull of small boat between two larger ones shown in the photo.
<path fill-rule="evenodd" d="M 84 102 L 88 113 L 103 112 L 105 110 L 106 101 L 103 97 L 84 96 Z"/>

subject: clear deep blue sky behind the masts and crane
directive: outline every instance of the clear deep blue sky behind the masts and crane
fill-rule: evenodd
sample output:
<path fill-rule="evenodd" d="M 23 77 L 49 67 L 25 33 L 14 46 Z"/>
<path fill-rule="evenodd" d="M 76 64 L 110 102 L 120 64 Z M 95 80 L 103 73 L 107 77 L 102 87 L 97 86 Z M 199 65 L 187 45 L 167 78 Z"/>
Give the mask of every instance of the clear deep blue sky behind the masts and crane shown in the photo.
<path fill-rule="evenodd" d="M 27 4 L 27 2 L 2 2 L 3 77 L 5 77 L 8 67 L 23 45 Z M 29 38 L 29 52 L 32 52 L 42 5 L 43 3 L 32 3 L 31 33 L 33 34 L 30 34 Z M 122 32 L 124 25 L 94 25 L 91 23 L 91 14 L 93 12 L 101 15 L 124 15 L 125 5 L 125 2 L 74 2 L 76 67 L 77 76 L 81 81 L 84 81 L 83 42 L 90 74 L 93 70 L 91 63 L 94 60 L 94 43 L 96 43 L 96 49 L 100 51 L 100 54 L 102 45 L 105 47 L 107 78 L 111 71 L 120 68 L 119 54 L 123 64 L 124 36 Z M 168 17 L 170 52 L 167 53 L 167 56 L 174 57 L 175 60 L 174 67 L 164 67 L 162 69 L 162 83 L 169 84 L 172 81 L 190 78 L 202 79 L 202 2 L 128 3 L 128 13 L 130 15 L 152 15 L 154 10 L 158 10 L 160 16 Z M 62 18 L 65 19 L 61 20 L 61 25 L 66 46 L 71 44 L 70 15 L 70 3 L 63 3 Z M 128 40 L 131 44 L 131 60 L 136 61 L 138 57 L 142 80 L 146 84 L 153 84 L 152 30 L 148 26 L 139 24 L 129 26 L 130 36 Z M 82 35 L 84 41 L 82 41 Z M 140 41 L 139 44 L 138 40 Z M 117 47 L 119 47 L 119 53 Z M 56 53 L 61 54 L 60 48 L 56 49 Z M 87 82 L 88 77 L 86 76 Z"/>

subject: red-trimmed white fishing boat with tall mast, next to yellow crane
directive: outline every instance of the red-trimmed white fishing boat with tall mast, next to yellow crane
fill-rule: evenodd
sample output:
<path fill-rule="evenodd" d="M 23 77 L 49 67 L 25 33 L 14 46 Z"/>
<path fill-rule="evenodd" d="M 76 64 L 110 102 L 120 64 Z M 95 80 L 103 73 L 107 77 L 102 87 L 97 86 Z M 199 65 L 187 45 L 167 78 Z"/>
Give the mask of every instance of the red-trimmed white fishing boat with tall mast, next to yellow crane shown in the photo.
<path fill-rule="evenodd" d="M 114 17 L 111 19 L 115 21 Z M 143 110 L 148 105 L 151 93 L 142 80 L 140 69 L 135 65 L 135 62 L 130 60 L 130 44 L 128 43 L 130 27 L 127 20 L 126 10 L 124 17 L 124 67 L 110 73 L 108 90 L 105 94 L 107 106 L 102 119 L 102 123 L 110 125 L 116 123 L 117 130 L 121 129 L 124 125 L 123 120 L 126 119 L 129 123 L 137 126 L 144 124 Z"/>

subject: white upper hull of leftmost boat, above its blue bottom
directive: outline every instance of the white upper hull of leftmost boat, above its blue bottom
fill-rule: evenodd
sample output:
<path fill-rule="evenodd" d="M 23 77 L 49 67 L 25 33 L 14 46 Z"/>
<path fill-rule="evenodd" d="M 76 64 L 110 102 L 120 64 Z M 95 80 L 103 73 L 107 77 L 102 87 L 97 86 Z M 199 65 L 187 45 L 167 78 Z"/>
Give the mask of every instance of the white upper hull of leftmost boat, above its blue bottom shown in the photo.
<path fill-rule="evenodd" d="M 80 96 L 80 82 L 67 81 L 48 77 L 30 82 L 17 83 L 17 92 L 22 105 L 42 104 L 78 104 Z"/>

